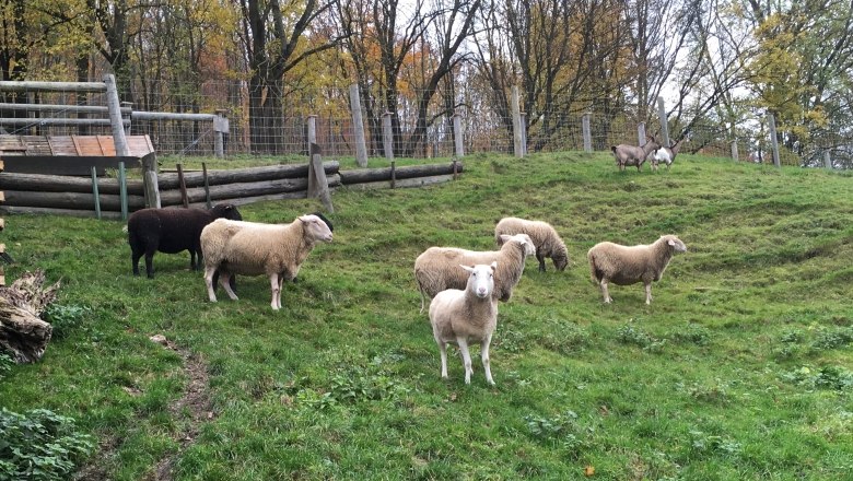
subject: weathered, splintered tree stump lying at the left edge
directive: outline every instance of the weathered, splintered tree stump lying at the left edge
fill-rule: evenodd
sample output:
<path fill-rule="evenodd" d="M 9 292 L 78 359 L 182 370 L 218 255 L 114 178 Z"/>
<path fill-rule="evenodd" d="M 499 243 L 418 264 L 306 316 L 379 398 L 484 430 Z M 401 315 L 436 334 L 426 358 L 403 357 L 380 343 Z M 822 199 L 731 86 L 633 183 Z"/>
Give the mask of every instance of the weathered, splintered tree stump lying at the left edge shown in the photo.
<path fill-rule="evenodd" d="M 8 288 L 0 288 L 0 352 L 16 363 L 42 359 L 54 331 L 40 319 L 56 300 L 59 282 L 45 289 L 43 271 L 25 272 Z"/>

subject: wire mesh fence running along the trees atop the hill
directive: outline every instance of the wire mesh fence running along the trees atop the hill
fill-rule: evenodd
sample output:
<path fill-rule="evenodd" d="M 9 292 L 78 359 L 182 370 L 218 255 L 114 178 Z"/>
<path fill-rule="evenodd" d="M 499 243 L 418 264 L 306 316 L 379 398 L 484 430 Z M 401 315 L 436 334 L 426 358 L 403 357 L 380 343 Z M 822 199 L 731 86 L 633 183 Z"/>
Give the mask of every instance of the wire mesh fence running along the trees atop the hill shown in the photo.
<path fill-rule="evenodd" d="M 141 87 L 131 89 L 141 91 Z M 130 95 L 135 102 L 122 104 L 126 131 L 149 136 L 159 154 L 213 155 L 215 130 L 212 121 L 187 119 L 135 119 L 141 112 L 173 114 L 213 114 L 227 118 L 224 134 L 225 155 L 307 155 L 309 148 L 308 121 L 314 125 L 316 143 L 324 155 L 349 157 L 355 155 L 357 129 L 350 109 L 347 89 L 316 92 L 301 91 L 283 94 L 280 108 L 273 115 L 253 110 L 245 82 L 207 82 L 200 89 L 185 85 L 147 85 L 145 92 L 159 95 Z M 17 94 L 10 102 L 0 92 L 0 128 L 15 136 L 108 136 L 112 133 L 103 93 L 28 92 Z M 401 105 L 414 105 L 416 93 L 401 93 Z M 370 102 L 375 99 L 371 98 Z M 364 105 L 362 103 L 362 105 Z M 269 112 L 269 109 L 267 109 Z M 375 108 L 372 110 L 375 112 Z M 513 121 L 496 109 L 472 108 L 463 104 L 454 113 L 432 112 L 425 134 L 414 136 L 412 109 L 395 113 L 394 144 L 416 139 L 406 156 L 451 157 L 455 154 L 453 115 L 461 119 L 463 149 L 470 153 L 514 153 Z M 589 108 L 584 113 L 553 113 L 548 118 L 526 118 L 526 152 L 583 151 L 583 118 L 587 116 L 589 143 L 593 151 L 609 151 L 620 143 L 642 144 L 640 119 L 629 112 Z M 370 157 L 385 156 L 382 142 L 382 118 L 365 116 L 362 110 L 365 144 Z M 760 125 L 761 119 L 752 119 Z M 659 132 L 659 121 L 652 117 L 643 122 L 646 132 Z M 647 125 L 645 125 L 647 124 Z M 257 126 L 264 126 L 262 129 Z M 768 134 L 763 128 L 747 129 L 734 142 L 731 130 L 713 124 L 697 124 L 691 128 L 690 141 L 682 152 L 698 152 L 713 156 L 732 156 L 740 161 L 772 162 Z M 683 132 L 670 132 L 671 142 Z M 662 140 L 662 139 L 658 139 Z M 808 162 L 819 162 L 820 152 L 810 152 Z M 395 156 L 404 156 L 395 152 Z M 804 165 L 797 155 L 783 155 L 782 164 Z"/>

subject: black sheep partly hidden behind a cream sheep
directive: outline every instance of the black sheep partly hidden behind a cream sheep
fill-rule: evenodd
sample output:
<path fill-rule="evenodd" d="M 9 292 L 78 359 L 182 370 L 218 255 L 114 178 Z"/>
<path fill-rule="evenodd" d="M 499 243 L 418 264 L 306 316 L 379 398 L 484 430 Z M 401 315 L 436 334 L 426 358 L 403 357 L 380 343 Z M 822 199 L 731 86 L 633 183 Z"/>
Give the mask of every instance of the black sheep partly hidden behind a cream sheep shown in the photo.
<path fill-rule="evenodd" d="M 154 253 L 176 254 L 189 250 L 189 266 L 201 268 L 201 230 L 217 219 L 239 221 L 243 216 L 230 203 L 220 203 L 210 210 L 201 209 L 141 209 L 127 220 L 128 243 L 133 275 L 139 275 L 139 258 L 145 256 L 145 273 L 154 277 Z"/>

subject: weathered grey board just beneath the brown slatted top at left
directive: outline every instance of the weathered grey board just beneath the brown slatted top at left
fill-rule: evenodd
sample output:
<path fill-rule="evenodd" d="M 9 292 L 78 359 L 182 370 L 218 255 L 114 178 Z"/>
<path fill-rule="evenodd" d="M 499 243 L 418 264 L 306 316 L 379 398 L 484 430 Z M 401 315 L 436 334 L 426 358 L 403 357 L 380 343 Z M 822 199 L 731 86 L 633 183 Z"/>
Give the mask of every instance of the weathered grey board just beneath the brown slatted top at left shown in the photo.
<path fill-rule="evenodd" d="M 46 175 L 74 175 L 89 176 L 91 167 L 97 169 L 98 175 L 104 175 L 107 168 L 118 168 L 119 162 L 126 165 L 137 166 L 137 157 L 104 157 L 95 156 L 40 156 L 40 155 L 9 155 L 3 156 L 5 172 L 20 174 L 46 174 Z"/>

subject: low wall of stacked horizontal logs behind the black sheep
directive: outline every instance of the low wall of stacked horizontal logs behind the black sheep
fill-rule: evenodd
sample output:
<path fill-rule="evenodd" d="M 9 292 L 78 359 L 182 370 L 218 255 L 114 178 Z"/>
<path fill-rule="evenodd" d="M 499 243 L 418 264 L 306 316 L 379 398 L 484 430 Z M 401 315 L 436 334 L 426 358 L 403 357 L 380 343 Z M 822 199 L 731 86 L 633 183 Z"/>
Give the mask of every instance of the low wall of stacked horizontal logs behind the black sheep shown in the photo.
<path fill-rule="evenodd" d="M 352 188 L 420 187 L 447 181 L 463 172 L 460 162 L 340 171 L 337 161 L 323 162 L 330 190 Z M 271 165 L 229 171 L 160 173 L 160 206 L 206 207 L 230 202 L 308 197 L 308 164 Z M 43 174 L 1 173 L 0 213 L 50 213 L 120 219 L 154 206 L 154 189 L 144 179 L 92 178 Z"/>

